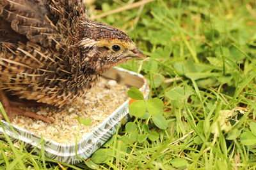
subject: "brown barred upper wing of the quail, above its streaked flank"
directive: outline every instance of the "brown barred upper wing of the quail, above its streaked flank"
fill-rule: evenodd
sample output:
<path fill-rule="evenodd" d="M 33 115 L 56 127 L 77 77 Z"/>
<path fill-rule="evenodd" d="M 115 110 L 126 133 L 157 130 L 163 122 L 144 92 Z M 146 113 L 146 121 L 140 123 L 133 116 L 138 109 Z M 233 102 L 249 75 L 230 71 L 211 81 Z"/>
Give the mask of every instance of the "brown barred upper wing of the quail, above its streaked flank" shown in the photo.
<path fill-rule="evenodd" d="M 46 48 L 60 50 L 72 43 L 70 29 L 76 29 L 79 18 L 87 18 L 79 0 L 1 0 L 0 18 L 10 23 L 13 31 Z M 63 49 L 61 49 L 63 51 Z M 65 49 L 64 49 L 65 51 Z"/>

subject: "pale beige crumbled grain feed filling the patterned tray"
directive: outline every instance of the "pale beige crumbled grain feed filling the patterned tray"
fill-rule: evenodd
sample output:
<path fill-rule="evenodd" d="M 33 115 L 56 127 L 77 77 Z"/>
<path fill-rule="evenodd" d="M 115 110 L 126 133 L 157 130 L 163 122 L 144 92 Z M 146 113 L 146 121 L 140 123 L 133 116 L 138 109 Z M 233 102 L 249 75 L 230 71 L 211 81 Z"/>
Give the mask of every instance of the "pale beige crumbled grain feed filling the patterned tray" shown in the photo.
<path fill-rule="evenodd" d="M 77 141 L 82 139 L 84 134 L 89 134 L 128 99 L 127 90 L 128 88 L 125 85 L 120 85 L 115 80 L 100 77 L 95 87 L 61 109 L 48 105 L 22 108 L 54 118 L 53 123 L 47 124 L 41 120 L 19 115 L 15 117 L 12 124 L 38 136 L 42 134 L 45 138 L 58 143 L 75 143 L 76 136 Z M 77 117 L 91 119 L 92 125 L 79 125 Z"/>

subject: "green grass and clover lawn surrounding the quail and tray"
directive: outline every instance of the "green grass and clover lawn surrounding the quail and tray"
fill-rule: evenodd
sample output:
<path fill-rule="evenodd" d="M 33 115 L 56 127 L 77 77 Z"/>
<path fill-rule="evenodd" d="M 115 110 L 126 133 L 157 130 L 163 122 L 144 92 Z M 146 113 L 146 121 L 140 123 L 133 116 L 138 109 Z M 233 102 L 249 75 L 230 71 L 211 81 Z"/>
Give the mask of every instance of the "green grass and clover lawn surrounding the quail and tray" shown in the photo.
<path fill-rule="evenodd" d="M 97 1 L 88 11 L 95 17 L 132 2 Z M 74 166 L 28 153 L 6 136 L 1 168 L 256 169 L 255 1 L 156 0 L 97 20 L 127 31 L 148 56 L 122 67 L 147 78 L 150 98 L 164 102 L 166 127 L 134 118 Z"/>

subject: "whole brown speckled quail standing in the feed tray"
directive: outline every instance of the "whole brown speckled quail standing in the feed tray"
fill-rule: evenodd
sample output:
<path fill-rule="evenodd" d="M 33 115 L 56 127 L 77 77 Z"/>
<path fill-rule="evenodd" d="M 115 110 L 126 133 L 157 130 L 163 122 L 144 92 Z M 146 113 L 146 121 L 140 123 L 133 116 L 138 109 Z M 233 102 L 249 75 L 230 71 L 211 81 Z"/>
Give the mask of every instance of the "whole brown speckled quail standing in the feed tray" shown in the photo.
<path fill-rule="evenodd" d="M 83 0 L 0 1 L 0 101 L 10 120 L 54 122 L 20 110 L 6 93 L 61 107 L 133 58 L 145 55 L 124 31 L 90 20 Z"/>

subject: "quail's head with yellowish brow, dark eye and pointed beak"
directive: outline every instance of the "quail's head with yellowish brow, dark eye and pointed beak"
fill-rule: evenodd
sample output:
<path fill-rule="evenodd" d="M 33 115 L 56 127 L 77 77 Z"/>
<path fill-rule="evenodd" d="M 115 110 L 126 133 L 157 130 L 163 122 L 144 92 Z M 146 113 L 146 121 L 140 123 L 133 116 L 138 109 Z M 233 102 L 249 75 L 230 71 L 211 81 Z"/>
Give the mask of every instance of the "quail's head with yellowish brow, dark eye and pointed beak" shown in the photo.
<path fill-rule="evenodd" d="M 84 22 L 83 38 L 79 46 L 83 52 L 85 67 L 96 73 L 108 69 L 134 57 L 145 58 L 129 36 L 115 27 L 100 22 Z"/>

